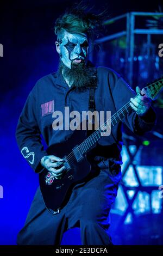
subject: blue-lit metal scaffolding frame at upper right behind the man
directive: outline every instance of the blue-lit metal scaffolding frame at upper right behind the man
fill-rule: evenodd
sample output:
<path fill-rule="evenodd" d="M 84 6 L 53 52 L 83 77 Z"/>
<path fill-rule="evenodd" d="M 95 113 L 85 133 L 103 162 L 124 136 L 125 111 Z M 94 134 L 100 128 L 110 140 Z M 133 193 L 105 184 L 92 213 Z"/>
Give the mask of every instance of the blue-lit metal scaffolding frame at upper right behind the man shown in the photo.
<path fill-rule="evenodd" d="M 134 74 L 134 46 L 135 46 L 135 35 L 147 35 L 147 43 L 151 42 L 151 35 L 163 35 L 163 29 L 156 28 L 136 28 L 135 20 L 137 17 L 163 17 L 163 13 L 144 13 L 144 12 L 131 12 L 126 13 L 112 19 L 106 20 L 103 25 L 110 26 L 117 21 L 126 19 L 126 28 L 123 31 L 116 32 L 110 35 L 106 35 L 103 38 L 99 38 L 95 41 L 95 44 L 102 44 L 103 42 L 111 41 L 114 39 L 126 36 L 126 66 L 125 66 L 125 77 L 128 80 L 130 86 L 133 85 L 133 74 Z M 90 51 L 90 60 L 93 60 L 93 51 Z"/>

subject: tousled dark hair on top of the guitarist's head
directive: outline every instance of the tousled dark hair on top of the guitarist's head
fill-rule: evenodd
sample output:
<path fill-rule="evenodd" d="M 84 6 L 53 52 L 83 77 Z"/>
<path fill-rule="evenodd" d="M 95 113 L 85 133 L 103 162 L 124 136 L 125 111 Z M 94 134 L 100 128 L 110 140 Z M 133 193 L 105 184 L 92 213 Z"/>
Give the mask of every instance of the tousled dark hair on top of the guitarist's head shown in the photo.
<path fill-rule="evenodd" d="M 54 32 L 61 38 L 62 29 L 69 33 L 85 33 L 90 39 L 98 38 L 102 31 L 104 13 L 93 14 L 85 6 L 70 8 L 55 21 Z"/>

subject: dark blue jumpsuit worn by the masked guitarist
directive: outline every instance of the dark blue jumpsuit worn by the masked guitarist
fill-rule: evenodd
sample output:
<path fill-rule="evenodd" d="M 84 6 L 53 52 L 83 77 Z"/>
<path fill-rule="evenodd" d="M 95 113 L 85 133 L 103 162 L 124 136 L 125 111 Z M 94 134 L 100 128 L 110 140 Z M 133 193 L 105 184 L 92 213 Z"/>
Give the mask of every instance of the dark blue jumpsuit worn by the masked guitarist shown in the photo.
<path fill-rule="evenodd" d="M 130 97 L 135 95 L 123 78 L 114 70 L 95 67 L 98 87 L 95 90 L 97 111 L 111 111 L 113 115 Z M 54 111 L 88 111 L 89 89 L 78 91 L 68 87 L 59 71 L 42 77 L 30 92 L 16 129 L 18 147 L 36 173 L 41 172 L 40 160 L 46 156 L 40 134 L 48 146 L 64 142 L 72 131 L 54 131 Z M 139 117 L 131 111 L 122 122 L 136 134 L 153 128 L 155 113 L 151 108 Z M 92 175 L 73 188 L 71 198 L 60 214 L 52 215 L 43 203 L 40 188 L 37 189 L 26 223 L 18 233 L 18 245 L 60 245 L 65 230 L 80 227 L 83 245 L 109 245 L 109 212 L 117 196 L 121 175 L 122 123 L 102 137 L 100 149 L 93 151 L 92 168 L 98 167 L 98 175 Z"/>

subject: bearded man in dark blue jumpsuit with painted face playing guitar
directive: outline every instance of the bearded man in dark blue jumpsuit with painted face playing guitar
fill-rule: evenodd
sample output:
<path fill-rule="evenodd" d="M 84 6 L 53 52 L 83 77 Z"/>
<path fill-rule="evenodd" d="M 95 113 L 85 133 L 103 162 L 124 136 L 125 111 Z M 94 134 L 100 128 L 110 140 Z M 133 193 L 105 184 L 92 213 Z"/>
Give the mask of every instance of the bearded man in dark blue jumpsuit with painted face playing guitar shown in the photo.
<path fill-rule="evenodd" d="M 37 189 L 26 223 L 18 234 L 18 245 L 60 245 L 64 231 L 73 227 L 80 227 L 83 245 L 112 244 L 108 233 L 109 213 L 122 178 L 121 126 L 124 123 L 131 131 L 142 135 L 152 130 L 155 112 L 151 100 L 140 95 L 139 87 L 136 88 L 139 95 L 135 96 L 114 70 L 96 67 L 87 59 L 99 23 L 98 15 L 85 13 L 82 9 L 66 11 L 57 19 L 55 46 L 60 57 L 59 68 L 37 81 L 30 92 L 16 129 L 18 147 L 36 173 L 41 174 L 46 169 L 49 175 L 53 174 L 54 180 L 62 182 L 66 167 L 60 164 L 64 159 L 59 157 L 57 150 L 55 154 L 44 150 L 40 135 L 51 147 L 67 141 L 71 144 L 73 131 L 54 130 L 53 112 L 64 112 L 65 106 L 79 113 L 88 111 L 93 86 L 96 86 L 92 97 L 97 111 L 114 114 L 127 101 L 130 101 L 131 111 L 111 129 L 110 136 L 99 139 L 91 150 L 88 158 L 93 171 L 76 182 L 61 210 L 54 214 L 49 212 L 40 187 Z"/>

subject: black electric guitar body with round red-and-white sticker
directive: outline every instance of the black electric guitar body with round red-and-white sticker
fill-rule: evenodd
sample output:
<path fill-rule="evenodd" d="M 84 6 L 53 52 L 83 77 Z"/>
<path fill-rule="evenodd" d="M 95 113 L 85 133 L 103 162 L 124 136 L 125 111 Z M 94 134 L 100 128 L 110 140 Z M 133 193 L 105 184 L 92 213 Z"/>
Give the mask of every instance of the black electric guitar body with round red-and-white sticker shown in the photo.
<path fill-rule="evenodd" d="M 90 164 L 86 160 L 86 156 L 82 158 L 79 157 L 78 161 L 76 159 L 77 156 L 74 154 L 76 152 L 76 145 L 81 143 L 84 137 L 86 138 L 85 133 L 86 131 L 76 130 L 66 142 L 52 145 L 47 149 L 48 155 L 55 155 L 61 159 L 63 159 L 65 155 L 71 155 L 70 160 L 64 164 L 66 167 L 70 168 L 63 178 L 51 179 L 51 173 L 49 173 L 46 168 L 39 174 L 43 201 L 46 208 L 53 214 L 57 214 L 59 212 L 58 209 L 66 205 L 74 185 L 82 181 L 90 173 Z M 72 151 L 73 149 L 75 150 L 74 153 Z M 47 179 L 48 182 L 46 183 Z"/>

